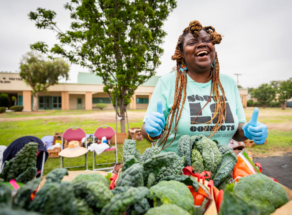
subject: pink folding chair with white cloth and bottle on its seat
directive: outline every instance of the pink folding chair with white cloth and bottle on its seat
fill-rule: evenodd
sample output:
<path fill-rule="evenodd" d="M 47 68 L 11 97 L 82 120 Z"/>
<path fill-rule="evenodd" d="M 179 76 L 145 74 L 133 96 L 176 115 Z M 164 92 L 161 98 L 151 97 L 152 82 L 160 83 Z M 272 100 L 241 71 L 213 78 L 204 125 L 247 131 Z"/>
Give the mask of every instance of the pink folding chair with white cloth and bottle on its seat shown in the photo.
<path fill-rule="evenodd" d="M 107 152 L 107 151 L 114 151 L 115 152 L 116 162 L 96 164 L 95 151 L 93 150 L 93 171 L 96 171 L 96 170 L 105 170 L 105 169 L 114 169 L 114 167 L 105 167 L 105 168 L 95 169 L 94 168 L 94 164 L 98 166 L 98 165 L 103 165 L 103 164 L 117 164 L 118 163 L 117 136 L 116 136 L 116 132 L 114 132 L 114 129 L 112 129 L 111 127 L 109 127 L 107 125 L 103 125 L 103 126 L 100 126 L 99 128 L 97 128 L 94 131 L 94 133 L 93 133 L 93 143 L 95 143 L 95 137 L 98 140 L 101 140 L 102 137 L 106 137 L 107 140 L 110 140 L 113 136 L 114 136 L 114 140 L 115 140 L 116 145 L 115 145 L 115 147 L 106 149 L 105 152 Z"/>

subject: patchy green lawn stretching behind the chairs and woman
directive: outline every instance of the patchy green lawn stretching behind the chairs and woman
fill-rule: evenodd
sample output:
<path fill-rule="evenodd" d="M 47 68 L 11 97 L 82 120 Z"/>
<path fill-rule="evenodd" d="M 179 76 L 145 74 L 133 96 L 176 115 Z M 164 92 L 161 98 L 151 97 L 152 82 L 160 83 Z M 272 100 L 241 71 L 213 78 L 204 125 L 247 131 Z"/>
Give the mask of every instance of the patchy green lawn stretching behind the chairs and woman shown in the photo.
<path fill-rule="evenodd" d="M 105 110 L 107 111 L 107 110 Z M 137 110 L 133 110 L 137 111 Z M 145 111 L 145 110 L 138 110 Z M 73 112 L 76 112 L 73 111 Z M 90 113 L 91 111 L 80 111 Z M 250 119 L 253 109 L 246 109 L 246 118 Z M 12 113 L 11 113 L 12 114 Z M 23 114 L 23 113 L 21 113 Z M 72 114 L 71 111 L 51 111 L 50 115 L 64 115 Z M 12 117 L 15 117 L 14 115 Z M 96 128 L 101 125 L 107 124 L 112 128 L 115 128 L 114 123 L 105 123 L 93 121 L 92 119 L 82 119 L 68 118 L 65 121 L 60 121 L 56 119 L 36 119 L 36 120 L 21 120 L 21 121 L 11 121 L 11 122 L 1 122 L 0 123 L 0 145 L 9 145 L 16 138 L 32 135 L 38 138 L 42 138 L 45 135 L 53 135 L 55 132 L 63 132 L 65 129 L 71 126 L 78 126 L 84 129 L 86 133 L 93 133 Z M 260 114 L 258 118 L 259 122 L 263 122 L 268 125 L 269 135 L 268 144 L 257 145 L 252 148 L 248 148 L 249 151 L 253 153 L 253 156 L 270 156 L 283 154 L 285 152 L 292 152 L 292 109 L 280 110 L 280 109 L 260 109 Z M 141 127 L 142 119 L 131 119 L 129 120 L 130 127 Z M 118 126 L 118 131 L 120 127 Z M 137 141 L 137 149 L 142 153 L 146 148 L 151 147 L 151 143 L 146 140 Z M 122 153 L 122 144 L 118 144 L 118 149 Z M 88 168 L 92 169 L 93 156 L 92 152 L 88 153 Z M 119 162 L 121 161 L 121 155 L 118 153 Z M 114 161 L 113 152 L 103 152 L 97 156 L 98 163 L 107 163 Z M 84 156 L 77 158 L 65 158 L 65 166 L 80 165 L 84 162 Z M 48 173 L 52 169 L 60 167 L 60 158 L 49 158 L 45 164 L 44 173 Z M 105 166 L 102 166 L 105 167 Z M 85 168 L 74 168 L 71 170 L 84 170 Z"/>

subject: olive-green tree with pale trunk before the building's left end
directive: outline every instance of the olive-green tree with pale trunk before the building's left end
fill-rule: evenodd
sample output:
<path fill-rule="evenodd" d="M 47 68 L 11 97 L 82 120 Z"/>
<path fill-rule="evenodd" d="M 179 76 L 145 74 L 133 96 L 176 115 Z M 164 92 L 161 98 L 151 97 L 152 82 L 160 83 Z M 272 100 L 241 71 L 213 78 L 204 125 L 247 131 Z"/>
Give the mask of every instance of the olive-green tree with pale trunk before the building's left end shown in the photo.
<path fill-rule="evenodd" d="M 69 65 L 61 58 L 45 60 L 36 52 L 28 52 L 20 62 L 20 77 L 32 87 L 33 108 L 38 109 L 39 93 L 46 91 L 49 86 L 58 84 L 59 78 L 69 78 Z"/>

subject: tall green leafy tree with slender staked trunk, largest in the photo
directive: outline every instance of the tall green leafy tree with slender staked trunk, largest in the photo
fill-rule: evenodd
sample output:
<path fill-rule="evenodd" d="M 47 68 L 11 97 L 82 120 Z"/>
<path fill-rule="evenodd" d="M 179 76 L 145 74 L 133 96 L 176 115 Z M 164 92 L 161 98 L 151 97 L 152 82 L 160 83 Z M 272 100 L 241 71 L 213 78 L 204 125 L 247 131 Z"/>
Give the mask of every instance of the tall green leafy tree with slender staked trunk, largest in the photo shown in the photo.
<path fill-rule="evenodd" d="M 48 49 L 40 41 L 31 47 L 51 58 L 60 54 L 102 77 L 103 90 L 114 107 L 117 97 L 121 132 L 125 132 L 126 107 L 137 87 L 161 63 L 163 22 L 175 7 L 175 0 L 71 0 L 65 4 L 72 19 L 71 30 L 66 32 L 57 27 L 54 11 L 37 8 L 29 18 L 38 28 L 56 31 L 59 44 Z"/>

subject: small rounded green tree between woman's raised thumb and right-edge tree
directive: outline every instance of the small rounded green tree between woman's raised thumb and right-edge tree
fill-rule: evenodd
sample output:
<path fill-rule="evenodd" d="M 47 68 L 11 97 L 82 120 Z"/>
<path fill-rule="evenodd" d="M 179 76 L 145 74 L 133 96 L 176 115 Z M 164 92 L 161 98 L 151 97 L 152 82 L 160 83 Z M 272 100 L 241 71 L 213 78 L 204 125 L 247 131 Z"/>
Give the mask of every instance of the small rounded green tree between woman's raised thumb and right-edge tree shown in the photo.
<path fill-rule="evenodd" d="M 276 97 L 276 89 L 270 84 L 262 84 L 252 91 L 251 96 L 265 108 Z"/>

